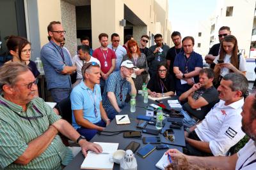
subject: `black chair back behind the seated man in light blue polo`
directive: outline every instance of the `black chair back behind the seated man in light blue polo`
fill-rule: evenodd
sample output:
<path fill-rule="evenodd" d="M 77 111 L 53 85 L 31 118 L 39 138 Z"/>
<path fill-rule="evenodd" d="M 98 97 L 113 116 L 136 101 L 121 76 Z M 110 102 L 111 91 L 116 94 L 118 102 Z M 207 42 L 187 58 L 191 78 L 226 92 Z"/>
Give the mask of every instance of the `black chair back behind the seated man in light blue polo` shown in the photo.
<path fill-rule="evenodd" d="M 63 99 L 56 106 L 58 111 L 60 112 L 61 117 L 64 120 L 67 120 L 68 123 L 72 124 L 72 110 L 71 110 L 71 101 L 70 97 Z"/>

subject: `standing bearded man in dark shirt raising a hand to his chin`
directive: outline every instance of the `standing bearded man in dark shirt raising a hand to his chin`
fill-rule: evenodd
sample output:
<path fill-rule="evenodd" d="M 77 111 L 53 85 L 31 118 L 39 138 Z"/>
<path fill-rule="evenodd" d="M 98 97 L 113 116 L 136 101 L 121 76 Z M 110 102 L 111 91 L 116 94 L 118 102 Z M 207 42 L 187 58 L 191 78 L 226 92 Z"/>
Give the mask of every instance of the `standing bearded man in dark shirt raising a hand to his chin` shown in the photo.
<path fill-rule="evenodd" d="M 156 34 L 154 39 L 156 45 L 152 45 L 149 48 L 149 50 L 154 53 L 154 59 L 150 62 L 150 66 L 148 66 L 150 77 L 154 77 L 156 75 L 157 66 L 161 62 L 166 62 L 166 54 L 170 48 L 170 46 L 163 44 L 163 36 L 161 34 Z"/>

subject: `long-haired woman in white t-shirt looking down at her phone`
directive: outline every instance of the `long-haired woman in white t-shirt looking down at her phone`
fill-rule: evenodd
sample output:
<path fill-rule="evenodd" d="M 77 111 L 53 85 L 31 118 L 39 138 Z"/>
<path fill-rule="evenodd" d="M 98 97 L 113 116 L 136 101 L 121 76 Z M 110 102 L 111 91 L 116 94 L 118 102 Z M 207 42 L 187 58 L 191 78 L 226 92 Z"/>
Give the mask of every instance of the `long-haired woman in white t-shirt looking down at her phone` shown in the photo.
<path fill-rule="evenodd" d="M 221 41 L 220 55 L 214 59 L 214 86 L 217 88 L 220 81 L 228 73 L 246 74 L 244 56 L 238 53 L 237 39 L 235 36 L 225 36 Z"/>

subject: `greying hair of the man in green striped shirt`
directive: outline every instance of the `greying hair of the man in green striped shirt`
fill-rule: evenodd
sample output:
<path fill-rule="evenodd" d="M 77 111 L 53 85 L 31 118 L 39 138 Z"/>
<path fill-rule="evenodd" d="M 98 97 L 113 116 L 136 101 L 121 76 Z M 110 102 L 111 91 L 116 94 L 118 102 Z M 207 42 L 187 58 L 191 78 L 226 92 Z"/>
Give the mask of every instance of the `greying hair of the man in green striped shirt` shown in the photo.
<path fill-rule="evenodd" d="M 17 81 L 18 76 L 26 71 L 29 71 L 29 67 L 21 62 L 10 62 L 0 67 L 0 92 L 3 93 L 3 86 L 10 85 L 13 87 Z"/>

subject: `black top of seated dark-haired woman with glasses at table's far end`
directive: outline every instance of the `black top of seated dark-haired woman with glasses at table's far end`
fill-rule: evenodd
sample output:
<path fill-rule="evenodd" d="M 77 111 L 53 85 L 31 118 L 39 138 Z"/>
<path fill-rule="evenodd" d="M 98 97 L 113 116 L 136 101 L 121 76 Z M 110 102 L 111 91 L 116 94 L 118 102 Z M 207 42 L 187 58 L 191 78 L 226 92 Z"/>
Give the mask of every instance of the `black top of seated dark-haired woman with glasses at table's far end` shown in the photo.
<path fill-rule="evenodd" d="M 150 78 L 147 89 L 151 92 L 162 93 L 161 81 L 164 84 L 163 92 L 175 92 L 175 82 L 171 75 L 166 75 L 166 78 L 157 78 L 157 75 L 154 78 Z"/>

